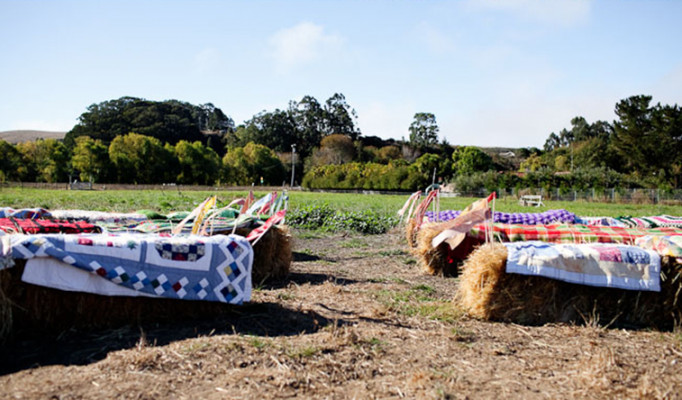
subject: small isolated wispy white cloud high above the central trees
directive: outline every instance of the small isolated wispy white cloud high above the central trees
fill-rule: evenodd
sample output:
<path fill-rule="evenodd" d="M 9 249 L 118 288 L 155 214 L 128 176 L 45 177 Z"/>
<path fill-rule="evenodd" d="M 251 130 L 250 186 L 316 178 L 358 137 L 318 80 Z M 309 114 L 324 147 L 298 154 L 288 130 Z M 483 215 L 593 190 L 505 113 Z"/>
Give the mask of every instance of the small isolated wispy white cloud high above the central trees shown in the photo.
<path fill-rule="evenodd" d="M 269 42 L 270 57 L 275 61 L 275 69 L 280 73 L 287 73 L 297 66 L 337 54 L 343 39 L 326 34 L 324 27 L 320 25 L 302 22 L 275 32 Z"/>

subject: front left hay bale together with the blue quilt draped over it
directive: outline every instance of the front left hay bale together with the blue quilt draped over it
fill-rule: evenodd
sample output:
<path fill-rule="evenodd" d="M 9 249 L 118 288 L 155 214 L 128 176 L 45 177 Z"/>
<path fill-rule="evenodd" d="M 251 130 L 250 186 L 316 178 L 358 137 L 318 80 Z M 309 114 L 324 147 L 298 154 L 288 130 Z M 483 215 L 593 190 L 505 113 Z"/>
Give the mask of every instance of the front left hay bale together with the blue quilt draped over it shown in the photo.
<path fill-rule="evenodd" d="M 251 297 L 253 249 L 237 235 L 8 235 L 2 244 L 17 265 L 0 270 L 0 339 L 13 326 L 177 320 Z"/>

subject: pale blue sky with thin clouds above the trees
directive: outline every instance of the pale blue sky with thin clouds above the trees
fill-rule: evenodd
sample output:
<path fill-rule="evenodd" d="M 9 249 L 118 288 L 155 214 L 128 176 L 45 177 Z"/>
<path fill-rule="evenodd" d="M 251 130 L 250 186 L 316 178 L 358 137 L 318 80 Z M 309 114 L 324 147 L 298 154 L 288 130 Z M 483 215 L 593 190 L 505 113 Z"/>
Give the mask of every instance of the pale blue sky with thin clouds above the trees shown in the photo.
<path fill-rule="evenodd" d="M 363 136 L 542 147 L 616 103 L 682 105 L 682 1 L 0 0 L 0 131 L 68 131 L 123 96 L 241 124 L 342 93 Z"/>

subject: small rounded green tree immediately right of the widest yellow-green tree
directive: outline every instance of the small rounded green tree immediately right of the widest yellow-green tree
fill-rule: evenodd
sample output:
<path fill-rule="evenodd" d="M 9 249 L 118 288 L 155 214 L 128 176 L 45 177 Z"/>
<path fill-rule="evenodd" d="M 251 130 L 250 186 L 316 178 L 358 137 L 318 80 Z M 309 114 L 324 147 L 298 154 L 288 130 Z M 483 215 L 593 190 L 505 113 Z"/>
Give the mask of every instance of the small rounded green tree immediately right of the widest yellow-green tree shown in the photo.
<path fill-rule="evenodd" d="M 178 183 L 212 185 L 220 177 L 220 158 L 210 147 L 181 140 L 174 150 L 180 170 Z"/>

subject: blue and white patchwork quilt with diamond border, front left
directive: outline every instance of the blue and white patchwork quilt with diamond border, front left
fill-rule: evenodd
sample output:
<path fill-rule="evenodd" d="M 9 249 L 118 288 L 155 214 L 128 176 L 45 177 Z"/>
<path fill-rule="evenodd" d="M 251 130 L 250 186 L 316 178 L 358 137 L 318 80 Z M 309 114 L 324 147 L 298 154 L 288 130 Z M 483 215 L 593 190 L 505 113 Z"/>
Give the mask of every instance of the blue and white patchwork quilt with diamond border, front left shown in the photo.
<path fill-rule="evenodd" d="M 138 292 L 231 304 L 251 298 L 253 249 L 242 236 L 8 236 L 12 258 L 51 257 Z"/>

